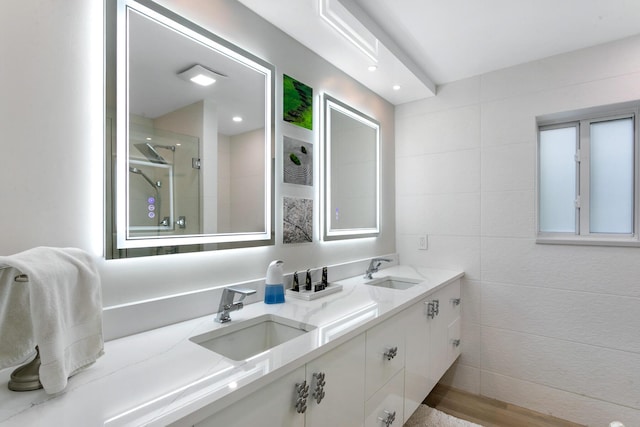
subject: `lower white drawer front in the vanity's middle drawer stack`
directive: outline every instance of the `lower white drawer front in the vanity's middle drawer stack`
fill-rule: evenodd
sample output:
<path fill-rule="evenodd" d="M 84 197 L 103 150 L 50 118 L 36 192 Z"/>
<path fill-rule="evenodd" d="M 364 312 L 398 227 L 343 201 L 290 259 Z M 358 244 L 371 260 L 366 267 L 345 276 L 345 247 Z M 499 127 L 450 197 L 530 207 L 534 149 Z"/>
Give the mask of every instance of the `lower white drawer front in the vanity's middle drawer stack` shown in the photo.
<path fill-rule="evenodd" d="M 400 370 L 365 405 L 365 427 L 404 425 L 404 370 Z"/>

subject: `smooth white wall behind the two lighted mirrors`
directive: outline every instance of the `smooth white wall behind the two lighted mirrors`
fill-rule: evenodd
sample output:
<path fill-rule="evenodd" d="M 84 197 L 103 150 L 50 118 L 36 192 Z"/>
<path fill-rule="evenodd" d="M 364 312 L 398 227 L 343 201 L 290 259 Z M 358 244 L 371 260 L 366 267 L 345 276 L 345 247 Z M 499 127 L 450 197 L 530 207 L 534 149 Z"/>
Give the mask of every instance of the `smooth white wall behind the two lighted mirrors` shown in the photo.
<path fill-rule="evenodd" d="M 285 270 L 320 267 L 395 251 L 393 106 L 284 33 L 230 0 L 161 2 L 276 65 L 276 245 L 100 263 L 105 306 L 264 277 L 273 259 Z M 0 14 L 0 254 L 30 247 L 76 246 L 103 253 L 104 81 L 101 1 L 25 0 Z M 314 89 L 313 132 L 281 121 L 282 74 Z M 284 133 L 320 147 L 318 95 L 328 91 L 380 120 L 384 173 L 378 239 L 281 243 Z M 315 196 L 318 188 L 311 189 Z M 306 191 L 306 190 L 305 190 Z M 316 206 L 318 205 L 316 200 Z M 317 212 L 316 212 L 317 213 Z M 212 301 L 212 311 L 216 301 Z"/>

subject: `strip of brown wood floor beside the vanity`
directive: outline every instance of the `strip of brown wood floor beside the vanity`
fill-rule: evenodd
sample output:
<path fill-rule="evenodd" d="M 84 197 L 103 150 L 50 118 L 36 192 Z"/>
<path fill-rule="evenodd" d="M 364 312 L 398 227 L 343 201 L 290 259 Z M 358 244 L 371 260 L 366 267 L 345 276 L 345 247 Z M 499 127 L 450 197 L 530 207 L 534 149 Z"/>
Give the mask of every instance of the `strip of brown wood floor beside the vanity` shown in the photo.
<path fill-rule="evenodd" d="M 433 389 L 423 403 L 484 427 L 584 427 L 581 424 L 440 384 Z"/>

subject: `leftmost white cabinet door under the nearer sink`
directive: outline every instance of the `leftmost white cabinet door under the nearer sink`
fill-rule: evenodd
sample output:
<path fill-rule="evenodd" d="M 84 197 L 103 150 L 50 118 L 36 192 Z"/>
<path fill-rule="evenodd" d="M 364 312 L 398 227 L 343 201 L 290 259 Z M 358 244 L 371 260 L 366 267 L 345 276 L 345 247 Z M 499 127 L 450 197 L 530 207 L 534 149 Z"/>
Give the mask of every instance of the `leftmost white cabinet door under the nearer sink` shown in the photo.
<path fill-rule="evenodd" d="M 282 426 L 304 427 L 304 414 L 296 411 L 296 384 L 302 383 L 305 369 L 300 367 L 195 424 L 197 427 Z"/>

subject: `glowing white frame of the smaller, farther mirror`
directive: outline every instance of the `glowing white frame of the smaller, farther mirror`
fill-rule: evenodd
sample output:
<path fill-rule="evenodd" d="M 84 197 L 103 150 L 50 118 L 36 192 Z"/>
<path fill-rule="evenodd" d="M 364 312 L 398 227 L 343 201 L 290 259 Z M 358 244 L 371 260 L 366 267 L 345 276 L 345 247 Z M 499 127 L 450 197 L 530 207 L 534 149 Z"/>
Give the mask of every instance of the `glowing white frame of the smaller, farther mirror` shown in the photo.
<path fill-rule="evenodd" d="M 375 119 L 363 114 L 355 108 L 338 101 L 326 93 L 322 97 L 323 103 L 323 155 L 322 161 L 324 163 L 323 175 L 324 179 L 322 192 L 322 225 L 323 225 L 323 239 L 324 240 L 340 240 L 340 239 L 356 239 L 364 237 L 377 237 L 380 235 L 380 123 Z M 337 228 L 332 224 L 333 218 L 333 206 L 331 206 L 331 189 L 334 185 L 333 177 L 331 174 L 331 116 L 333 112 L 343 114 L 356 122 L 364 124 L 370 127 L 375 132 L 375 138 L 371 141 L 375 144 L 375 226 L 374 227 L 354 227 L 354 228 Z M 346 185 L 345 182 L 336 182 L 335 185 Z"/>

